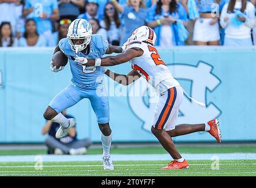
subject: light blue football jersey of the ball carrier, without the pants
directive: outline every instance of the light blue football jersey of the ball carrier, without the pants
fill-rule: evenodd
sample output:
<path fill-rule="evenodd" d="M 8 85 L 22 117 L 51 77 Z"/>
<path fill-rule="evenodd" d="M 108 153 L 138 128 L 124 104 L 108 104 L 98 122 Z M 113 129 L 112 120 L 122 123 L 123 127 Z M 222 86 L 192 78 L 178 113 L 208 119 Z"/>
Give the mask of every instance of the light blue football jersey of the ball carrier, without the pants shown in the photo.
<path fill-rule="evenodd" d="M 85 57 L 87 59 L 102 58 L 108 49 L 108 41 L 102 35 L 92 35 L 91 42 L 89 43 L 89 54 L 84 55 L 82 52 L 78 52 L 78 56 Z M 72 51 L 71 46 L 68 43 L 68 38 L 61 39 L 59 41 L 59 48 L 65 55 L 68 56 L 69 65 L 73 75 L 72 82 L 79 88 L 97 88 L 98 85 L 103 82 L 102 68 L 100 66 L 81 66 L 74 61 L 76 53 Z"/>

